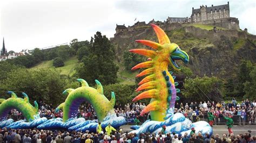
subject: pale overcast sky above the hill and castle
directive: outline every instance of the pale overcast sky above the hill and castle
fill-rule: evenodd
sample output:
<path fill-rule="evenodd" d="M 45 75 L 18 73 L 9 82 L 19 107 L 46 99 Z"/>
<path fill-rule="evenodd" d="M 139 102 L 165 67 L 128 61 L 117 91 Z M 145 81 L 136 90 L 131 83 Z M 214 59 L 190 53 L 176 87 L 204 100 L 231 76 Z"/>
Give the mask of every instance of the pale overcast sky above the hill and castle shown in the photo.
<path fill-rule="evenodd" d="M 153 18 L 190 17 L 192 7 L 227 4 L 227 1 L 1 1 L 0 46 L 8 51 L 43 48 L 77 38 L 90 40 L 97 31 L 113 37 L 116 24 L 148 23 Z M 256 34 L 256 1 L 230 1 L 230 15 L 240 28 Z"/>

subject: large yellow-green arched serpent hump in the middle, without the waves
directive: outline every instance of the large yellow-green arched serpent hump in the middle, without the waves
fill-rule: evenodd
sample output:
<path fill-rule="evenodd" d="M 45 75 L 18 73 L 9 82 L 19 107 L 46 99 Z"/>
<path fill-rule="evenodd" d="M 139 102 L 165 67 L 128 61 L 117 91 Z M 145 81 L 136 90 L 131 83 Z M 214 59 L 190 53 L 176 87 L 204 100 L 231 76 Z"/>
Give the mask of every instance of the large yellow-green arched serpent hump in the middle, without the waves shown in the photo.
<path fill-rule="evenodd" d="M 103 121 L 107 115 L 115 114 L 113 110 L 114 104 L 116 103 L 114 92 L 111 92 L 111 100 L 109 101 L 103 95 L 103 87 L 98 80 L 95 80 L 97 89 L 89 87 L 88 83 L 81 78 L 77 81 L 81 83 L 82 87 L 66 89 L 63 94 L 68 94 L 68 97 L 56 109 L 57 111 L 63 109 L 63 121 L 76 117 L 79 105 L 85 101 L 92 105 L 99 121 Z"/>

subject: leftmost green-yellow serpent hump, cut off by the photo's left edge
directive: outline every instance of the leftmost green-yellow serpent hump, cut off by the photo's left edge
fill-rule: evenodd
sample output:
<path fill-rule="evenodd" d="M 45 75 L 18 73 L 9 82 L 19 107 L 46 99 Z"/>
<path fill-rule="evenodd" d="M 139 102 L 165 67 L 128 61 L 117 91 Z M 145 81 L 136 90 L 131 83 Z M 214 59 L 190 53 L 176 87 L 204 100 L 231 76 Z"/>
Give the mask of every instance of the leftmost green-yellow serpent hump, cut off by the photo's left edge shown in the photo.
<path fill-rule="evenodd" d="M 11 109 L 17 109 L 22 113 L 26 121 L 31 121 L 35 119 L 35 116 L 38 115 L 38 104 L 35 101 L 35 107 L 29 103 L 29 97 L 24 92 L 22 92 L 23 98 L 18 98 L 17 95 L 8 91 L 8 94 L 11 95 L 8 99 L 0 99 L 0 120 L 2 120 Z"/>

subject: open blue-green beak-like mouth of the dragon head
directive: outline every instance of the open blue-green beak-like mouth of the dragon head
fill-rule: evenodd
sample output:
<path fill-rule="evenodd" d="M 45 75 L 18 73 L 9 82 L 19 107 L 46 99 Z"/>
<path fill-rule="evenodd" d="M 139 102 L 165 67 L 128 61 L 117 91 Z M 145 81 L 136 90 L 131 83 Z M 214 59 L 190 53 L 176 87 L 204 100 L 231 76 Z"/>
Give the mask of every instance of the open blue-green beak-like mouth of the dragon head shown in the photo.
<path fill-rule="evenodd" d="M 181 51 L 181 50 L 176 50 L 175 52 L 173 52 L 171 54 L 170 61 L 171 61 L 172 67 L 176 70 L 180 70 L 180 67 L 176 63 L 176 61 L 178 61 L 178 60 L 181 60 L 184 63 L 188 63 L 189 57 L 186 52 Z"/>

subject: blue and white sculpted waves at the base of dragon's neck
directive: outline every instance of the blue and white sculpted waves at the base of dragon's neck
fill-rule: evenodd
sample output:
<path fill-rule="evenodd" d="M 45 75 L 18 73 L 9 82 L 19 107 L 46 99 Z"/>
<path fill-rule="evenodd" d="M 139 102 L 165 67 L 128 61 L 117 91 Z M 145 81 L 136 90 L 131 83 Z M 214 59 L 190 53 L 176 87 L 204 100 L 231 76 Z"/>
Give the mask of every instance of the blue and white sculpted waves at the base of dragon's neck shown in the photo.
<path fill-rule="evenodd" d="M 198 121 L 192 124 L 191 120 L 185 118 L 185 116 L 181 113 L 176 113 L 171 117 L 167 118 L 165 121 L 147 120 L 140 127 L 132 126 L 131 128 L 135 130 L 131 131 L 130 133 L 140 134 L 150 132 L 158 134 L 162 130 L 163 125 L 166 126 L 166 133 L 175 132 L 176 134 L 181 133 L 182 135 L 184 135 L 185 132 L 187 132 L 188 134 L 190 134 L 190 129 L 192 127 L 195 128 L 196 133 L 201 132 L 202 134 L 208 133 L 210 135 L 212 135 L 213 133 L 212 127 L 206 121 Z"/>

